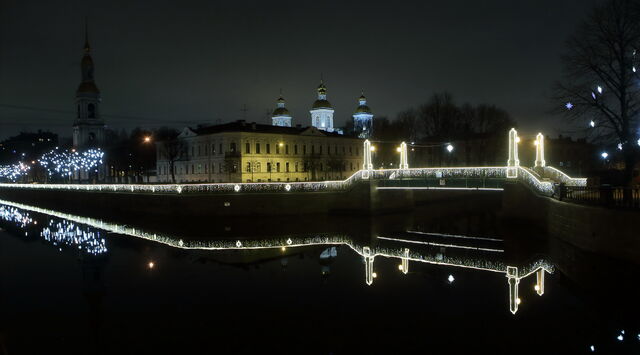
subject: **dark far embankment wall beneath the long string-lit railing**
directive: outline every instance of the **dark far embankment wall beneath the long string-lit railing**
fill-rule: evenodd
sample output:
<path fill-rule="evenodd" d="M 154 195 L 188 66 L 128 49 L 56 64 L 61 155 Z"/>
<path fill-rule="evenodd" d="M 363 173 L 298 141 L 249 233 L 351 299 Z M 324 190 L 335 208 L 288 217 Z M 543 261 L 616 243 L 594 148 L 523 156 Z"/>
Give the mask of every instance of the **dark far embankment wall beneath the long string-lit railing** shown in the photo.
<path fill-rule="evenodd" d="M 309 214 L 377 214 L 412 206 L 407 191 L 381 197 L 375 182 L 334 192 L 124 193 L 0 187 L 0 199 L 84 216 L 291 216 Z M 96 215 L 97 212 L 97 215 Z"/>

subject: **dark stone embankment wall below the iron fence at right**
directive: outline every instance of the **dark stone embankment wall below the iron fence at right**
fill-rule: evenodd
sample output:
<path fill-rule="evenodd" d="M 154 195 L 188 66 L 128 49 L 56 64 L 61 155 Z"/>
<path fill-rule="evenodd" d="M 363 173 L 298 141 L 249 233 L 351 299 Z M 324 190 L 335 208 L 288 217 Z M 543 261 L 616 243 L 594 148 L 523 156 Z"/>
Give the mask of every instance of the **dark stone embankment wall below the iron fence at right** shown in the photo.
<path fill-rule="evenodd" d="M 504 217 L 543 226 L 580 249 L 640 263 L 640 211 L 562 202 L 518 183 L 504 189 Z"/>

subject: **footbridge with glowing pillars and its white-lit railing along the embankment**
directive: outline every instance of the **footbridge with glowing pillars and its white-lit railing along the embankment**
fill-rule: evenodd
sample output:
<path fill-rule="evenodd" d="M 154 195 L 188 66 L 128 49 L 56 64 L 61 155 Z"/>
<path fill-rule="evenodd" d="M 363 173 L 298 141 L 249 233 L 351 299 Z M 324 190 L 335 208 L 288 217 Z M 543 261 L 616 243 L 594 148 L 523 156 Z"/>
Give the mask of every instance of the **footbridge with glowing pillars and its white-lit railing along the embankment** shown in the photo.
<path fill-rule="evenodd" d="M 585 187 L 586 179 L 572 178 L 562 171 L 546 166 L 544 160 L 544 136 L 539 133 L 536 137 L 536 160 L 531 168 L 520 165 L 518 159 L 519 137 L 515 129 L 509 131 L 509 157 L 505 166 L 489 167 L 424 167 L 410 168 L 407 155 L 407 144 L 402 142 L 399 148 L 400 161 L 395 169 L 373 169 L 371 158 L 371 142 L 364 141 L 364 164 L 361 170 L 345 180 L 340 181 L 312 181 L 312 182 L 249 182 L 249 183 L 204 183 L 204 184 L 24 184 L 4 183 L 0 189 L 43 189 L 43 190 L 73 190 L 98 191 L 115 193 L 142 194 L 194 194 L 194 193 L 255 193 L 255 192 L 308 192 L 308 191 L 346 191 L 361 181 L 379 181 L 380 190 L 411 190 L 411 189 L 469 189 L 469 190 L 501 190 L 500 182 L 518 181 L 537 193 L 552 196 L 556 192 L 554 186 Z M 435 187 L 427 186 L 429 179 L 482 181 L 481 185 L 465 185 L 464 187 Z M 410 185 L 408 181 L 416 184 Z M 496 186 L 486 186 L 486 181 L 498 182 Z M 400 181 L 404 181 L 400 183 Z"/>

